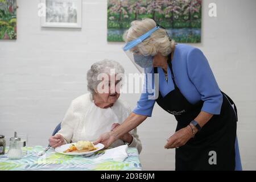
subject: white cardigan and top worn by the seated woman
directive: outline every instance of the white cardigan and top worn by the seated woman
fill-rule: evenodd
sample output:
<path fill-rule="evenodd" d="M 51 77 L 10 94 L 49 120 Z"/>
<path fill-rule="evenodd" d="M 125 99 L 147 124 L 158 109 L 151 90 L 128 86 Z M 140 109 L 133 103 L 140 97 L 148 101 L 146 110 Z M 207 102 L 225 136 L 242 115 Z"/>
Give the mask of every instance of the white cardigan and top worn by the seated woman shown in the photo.
<path fill-rule="evenodd" d="M 63 135 L 66 143 L 79 140 L 96 140 L 102 133 L 111 130 L 113 123 L 122 123 L 131 113 L 130 106 L 118 99 L 112 107 L 102 109 L 97 107 L 92 100 L 92 94 L 87 93 L 77 97 L 71 102 L 57 134 Z M 137 147 L 139 153 L 142 150 L 141 140 L 137 135 L 137 129 L 129 132 L 133 136 L 133 142 L 129 147 Z M 110 147 L 123 145 L 120 139 Z"/>

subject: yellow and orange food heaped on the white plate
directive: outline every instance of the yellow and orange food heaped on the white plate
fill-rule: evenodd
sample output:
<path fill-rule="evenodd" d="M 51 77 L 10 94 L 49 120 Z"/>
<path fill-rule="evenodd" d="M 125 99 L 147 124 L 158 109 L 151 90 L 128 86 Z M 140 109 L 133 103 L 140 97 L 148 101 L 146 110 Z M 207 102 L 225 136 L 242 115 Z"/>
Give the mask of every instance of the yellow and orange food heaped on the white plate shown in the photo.
<path fill-rule="evenodd" d="M 92 142 L 89 141 L 79 141 L 75 144 L 69 146 L 67 150 L 64 152 L 89 152 L 92 150 L 96 150 L 97 148 L 94 146 Z"/>

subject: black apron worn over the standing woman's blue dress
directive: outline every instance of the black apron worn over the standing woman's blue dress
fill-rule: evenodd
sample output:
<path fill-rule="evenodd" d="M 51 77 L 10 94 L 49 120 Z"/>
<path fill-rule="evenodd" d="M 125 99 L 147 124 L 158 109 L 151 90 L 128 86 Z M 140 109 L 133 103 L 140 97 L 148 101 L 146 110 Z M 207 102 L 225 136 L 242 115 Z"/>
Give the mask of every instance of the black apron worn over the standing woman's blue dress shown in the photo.
<path fill-rule="evenodd" d="M 168 113 L 175 115 L 177 120 L 176 131 L 189 125 L 197 117 L 203 106 L 203 101 L 190 104 L 180 92 L 175 83 L 174 72 L 172 71 L 171 56 L 168 65 L 171 69 L 172 81 L 175 89 L 156 102 Z M 158 69 L 154 68 L 154 73 Z M 195 138 L 179 148 L 176 148 L 175 169 L 176 170 L 234 170 L 235 169 L 235 141 L 237 130 L 237 112 L 231 104 L 234 102 L 223 92 L 223 102 L 220 115 L 213 115 L 212 118 L 202 127 Z M 216 152 L 216 163 L 210 159 Z M 210 162 L 209 162 L 210 160 Z"/>

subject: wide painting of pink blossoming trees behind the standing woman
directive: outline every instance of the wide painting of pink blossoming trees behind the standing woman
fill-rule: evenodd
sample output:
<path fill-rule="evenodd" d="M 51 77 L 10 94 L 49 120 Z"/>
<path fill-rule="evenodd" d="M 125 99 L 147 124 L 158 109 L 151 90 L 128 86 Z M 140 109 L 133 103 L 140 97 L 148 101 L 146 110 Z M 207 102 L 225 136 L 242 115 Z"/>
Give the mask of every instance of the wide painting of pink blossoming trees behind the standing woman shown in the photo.
<path fill-rule="evenodd" d="M 133 20 L 152 18 L 175 42 L 201 42 L 201 0 L 108 0 L 108 41 L 122 42 Z"/>

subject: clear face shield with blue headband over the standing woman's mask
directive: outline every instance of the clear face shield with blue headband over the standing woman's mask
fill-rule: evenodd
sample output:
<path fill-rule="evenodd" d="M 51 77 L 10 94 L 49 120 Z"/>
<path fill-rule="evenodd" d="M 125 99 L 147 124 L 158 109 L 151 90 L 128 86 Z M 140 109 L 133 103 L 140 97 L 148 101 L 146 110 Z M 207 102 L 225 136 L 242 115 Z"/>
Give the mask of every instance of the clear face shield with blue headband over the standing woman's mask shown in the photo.
<path fill-rule="evenodd" d="M 136 49 L 136 46 L 138 46 L 138 44 L 142 43 L 143 40 L 147 39 L 153 32 L 155 32 L 159 28 L 161 28 L 161 27 L 156 26 L 156 27 L 152 28 L 150 31 L 146 32 L 146 34 L 143 34 L 143 35 L 139 36 L 137 39 L 134 39 L 134 40 L 128 42 L 123 47 L 123 51 L 125 51 L 126 55 L 129 57 L 131 62 L 135 65 L 135 67 L 141 73 L 143 72 L 143 68 L 150 68 L 153 66 L 154 56 L 141 55 L 141 53 L 139 53 L 139 51 Z"/>

